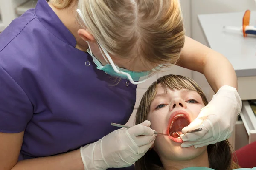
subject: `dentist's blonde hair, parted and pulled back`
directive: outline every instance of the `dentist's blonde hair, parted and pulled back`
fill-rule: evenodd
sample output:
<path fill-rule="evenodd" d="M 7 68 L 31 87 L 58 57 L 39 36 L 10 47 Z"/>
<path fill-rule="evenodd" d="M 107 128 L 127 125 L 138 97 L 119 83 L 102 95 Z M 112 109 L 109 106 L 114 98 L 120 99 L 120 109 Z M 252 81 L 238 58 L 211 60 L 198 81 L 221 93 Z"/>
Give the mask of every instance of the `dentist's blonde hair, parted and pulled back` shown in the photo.
<path fill-rule="evenodd" d="M 85 19 L 79 23 L 113 56 L 165 66 L 180 57 L 185 30 L 179 0 L 78 0 L 78 8 Z"/>

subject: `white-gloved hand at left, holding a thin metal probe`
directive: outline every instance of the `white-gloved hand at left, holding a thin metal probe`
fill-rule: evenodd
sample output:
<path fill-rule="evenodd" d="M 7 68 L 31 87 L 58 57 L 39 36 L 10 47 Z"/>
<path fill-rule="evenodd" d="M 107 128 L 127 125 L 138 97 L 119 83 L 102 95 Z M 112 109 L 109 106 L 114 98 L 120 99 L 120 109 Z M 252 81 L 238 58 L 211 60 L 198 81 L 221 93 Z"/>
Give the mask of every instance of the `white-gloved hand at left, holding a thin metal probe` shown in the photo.
<path fill-rule="evenodd" d="M 80 148 L 85 170 L 128 167 L 140 159 L 154 143 L 156 135 L 144 121 L 129 129 L 118 129 L 97 142 Z M 143 136 L 141 136 L 143 135 Z"/>

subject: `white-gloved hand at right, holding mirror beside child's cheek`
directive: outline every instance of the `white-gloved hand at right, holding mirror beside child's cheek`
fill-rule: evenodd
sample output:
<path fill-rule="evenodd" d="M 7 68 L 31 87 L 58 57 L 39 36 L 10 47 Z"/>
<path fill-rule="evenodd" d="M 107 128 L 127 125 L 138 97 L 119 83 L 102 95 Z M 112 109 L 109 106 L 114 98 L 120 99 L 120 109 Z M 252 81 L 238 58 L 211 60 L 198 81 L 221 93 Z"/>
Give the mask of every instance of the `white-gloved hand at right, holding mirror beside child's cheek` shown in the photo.
<path fill-rule="evenodd" d="M 201 109 L 198 117 L 182 129 L 182 133 L 203 128 L 196 133 L 181 135 L 181 147 L 203 147 L 229 138 L 241 111 L 241 98 L 236 88 L 222 86 L 207 106 Z M 185 142 L 186 141 L 186 142 Z"/>

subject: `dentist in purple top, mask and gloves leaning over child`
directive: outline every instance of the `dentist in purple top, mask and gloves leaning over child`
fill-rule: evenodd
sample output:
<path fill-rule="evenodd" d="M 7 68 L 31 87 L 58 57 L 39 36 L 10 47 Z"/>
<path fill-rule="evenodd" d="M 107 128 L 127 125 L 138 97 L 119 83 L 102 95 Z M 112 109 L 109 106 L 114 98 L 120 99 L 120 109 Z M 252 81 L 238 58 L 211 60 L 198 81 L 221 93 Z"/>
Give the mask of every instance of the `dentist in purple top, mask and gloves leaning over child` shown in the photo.
<path fill-rule="evenodd" d="M 154 143 L 150 122 L 118 129 L 137 84 L 173 64 L 216 92 L 182 147 L 227 139 L 241 110 L 228 60 L 185 36 L 179 0 L 38 0 L 0 34 L 0 170 L 132 166 Z"/>

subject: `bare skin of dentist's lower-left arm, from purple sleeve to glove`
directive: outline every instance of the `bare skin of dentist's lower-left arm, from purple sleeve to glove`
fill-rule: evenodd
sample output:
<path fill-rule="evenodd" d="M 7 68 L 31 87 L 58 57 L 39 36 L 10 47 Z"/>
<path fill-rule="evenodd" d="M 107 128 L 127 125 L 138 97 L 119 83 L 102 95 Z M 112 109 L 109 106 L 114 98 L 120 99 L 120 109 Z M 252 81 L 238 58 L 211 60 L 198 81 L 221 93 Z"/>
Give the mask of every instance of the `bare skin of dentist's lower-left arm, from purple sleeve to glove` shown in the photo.
<path fill-rule="evenodd" d="M 0 133 L 0 170 L 84 170 L 80 149 L 18 161 L 24 132 Z"/>

